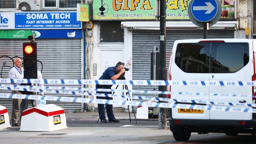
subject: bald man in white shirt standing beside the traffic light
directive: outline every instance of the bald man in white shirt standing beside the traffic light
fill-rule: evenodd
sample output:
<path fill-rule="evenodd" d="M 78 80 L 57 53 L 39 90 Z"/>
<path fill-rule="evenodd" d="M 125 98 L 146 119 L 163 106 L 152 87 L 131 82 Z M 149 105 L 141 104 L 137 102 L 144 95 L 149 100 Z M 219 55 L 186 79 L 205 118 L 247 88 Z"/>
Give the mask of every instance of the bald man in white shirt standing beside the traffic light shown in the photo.
<path fill-rule="evenodd" d="M 23 79 L 24 73 L 22 68 L 22 61 L 20 58 L 15 58 L 14 60 L 14 67 L 11 68 L 9 71 L 9 78 L 10 79 Z M 19 91 L 14 90 L 11 91 L 12 94 L 21 94 Z M 18 115 L 19 115 L 19 107 L 21 103 L 21 99 L 13 99 L 13 108 L 11 110 L 11 123 L 12 126 L 19 126 L 18 125 Z"/>

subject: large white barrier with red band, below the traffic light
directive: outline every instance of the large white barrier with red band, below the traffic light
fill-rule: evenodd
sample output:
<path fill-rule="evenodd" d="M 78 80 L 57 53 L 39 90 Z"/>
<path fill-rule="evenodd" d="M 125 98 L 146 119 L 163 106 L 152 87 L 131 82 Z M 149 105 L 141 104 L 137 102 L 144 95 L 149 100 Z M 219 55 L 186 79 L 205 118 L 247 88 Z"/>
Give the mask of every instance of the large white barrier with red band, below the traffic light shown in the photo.
<path fill-rule="evenodd" d="M 19 131 L 54 131 L 67 128 L 64 109 L 55 104 L 22 112 Z"/>

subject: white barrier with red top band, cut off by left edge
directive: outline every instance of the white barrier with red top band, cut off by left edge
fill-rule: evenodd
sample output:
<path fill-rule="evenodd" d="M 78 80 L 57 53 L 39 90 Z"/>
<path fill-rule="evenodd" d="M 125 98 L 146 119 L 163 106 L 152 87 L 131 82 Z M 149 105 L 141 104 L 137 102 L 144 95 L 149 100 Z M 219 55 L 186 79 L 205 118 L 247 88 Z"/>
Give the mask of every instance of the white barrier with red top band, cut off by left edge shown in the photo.
<path fill-rule="evenodd" d="M 7 108 L 0 105 L 0 130 L 9 127 L 11 127 L 11 125 Z"/>

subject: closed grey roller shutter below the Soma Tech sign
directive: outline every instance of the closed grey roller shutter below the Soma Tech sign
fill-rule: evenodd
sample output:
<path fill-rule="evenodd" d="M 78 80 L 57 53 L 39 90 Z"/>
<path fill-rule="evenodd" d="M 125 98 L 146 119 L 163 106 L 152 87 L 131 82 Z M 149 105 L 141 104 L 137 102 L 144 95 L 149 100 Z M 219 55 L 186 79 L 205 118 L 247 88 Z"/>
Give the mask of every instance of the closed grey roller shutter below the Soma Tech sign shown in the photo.
<path fill-rule="evenodd" d="M 19 56 L 22 54 L 22 43 L 27 40 L 0 40 L 0 56 Z M 49 39 L 36 40 L 37 42 L 37 60 L 43 63 L 43 79 L 81 79 L 82 62 L 81 62 L 81 40 L 80 39 Z M 2 77 L 8 78 L 9 67 L 13 66 L 11 59 L 1 58 L 0 68 L 2 69 Z M 37 63 L 38 70 L 41 71 L 41 63 Z M 63 86 L 63 85 L 45 85 L 45 86 Z M 81 87 L 80 85 L 65 85 L 72 87 Z M 1 92 L 10 93 L 10 91 L 1 90 Z M 67 96 L 81 97 L 81 95 L 62 95 L 48 94 L 47 96 Z M 11 112 L 12 99 L 0 99 L 0 104 L 8 108 Z M 66 112 L 81 110 L 81 103 L 63 103 L 47 101 L 46 104 L 56 104 L 65 109 Z"/>

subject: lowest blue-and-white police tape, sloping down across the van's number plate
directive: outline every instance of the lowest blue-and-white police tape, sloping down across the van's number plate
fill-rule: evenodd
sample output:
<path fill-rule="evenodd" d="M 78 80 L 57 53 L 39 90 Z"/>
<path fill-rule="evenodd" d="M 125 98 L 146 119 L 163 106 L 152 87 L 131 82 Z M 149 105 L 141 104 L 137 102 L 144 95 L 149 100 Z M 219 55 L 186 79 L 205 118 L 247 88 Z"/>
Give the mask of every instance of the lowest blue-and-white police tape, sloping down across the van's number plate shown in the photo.
<path fill-rule="evenodd" d="M 196 104 L 176 104 L 176 103 L 156 103 L 156 102 L 142 102 L 142 101 L 118 101 L 108 99 L 88 99 L 81 97 L 55 97 L 55 96 L 39 96 L 39 95 L 23 95 L 23 94 L 5 94 L 0 93 L 0 98 L 7 99 L 33 99 L 33 100 L 46 100 L 58 102 L 73 102 L 73 103 L 94 103 L 94 104 L 116 104 L 126 106 L 148 106 L 159 108 L 181 108 L 192 110 L 215 110 L 225 112 L 246 112 L 256 113 L 254 108 L 239 108 L 234 106 L 205 106 Z"/>

